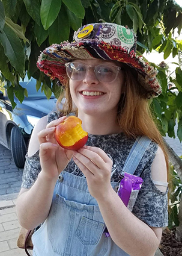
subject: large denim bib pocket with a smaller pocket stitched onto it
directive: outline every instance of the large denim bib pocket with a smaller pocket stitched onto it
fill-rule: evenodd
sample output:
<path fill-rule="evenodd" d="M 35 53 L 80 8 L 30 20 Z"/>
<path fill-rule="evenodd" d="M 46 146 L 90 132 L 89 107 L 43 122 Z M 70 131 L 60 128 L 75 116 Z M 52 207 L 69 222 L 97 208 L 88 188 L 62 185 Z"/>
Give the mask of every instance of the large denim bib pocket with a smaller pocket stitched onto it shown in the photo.
<path fill-rule="evenodd" d="M 80 204 L 56 195 L 47 218 L 53 252 L 70 256 L 105 255 L 108 241 L 102 221 L 98 205 Z"/>

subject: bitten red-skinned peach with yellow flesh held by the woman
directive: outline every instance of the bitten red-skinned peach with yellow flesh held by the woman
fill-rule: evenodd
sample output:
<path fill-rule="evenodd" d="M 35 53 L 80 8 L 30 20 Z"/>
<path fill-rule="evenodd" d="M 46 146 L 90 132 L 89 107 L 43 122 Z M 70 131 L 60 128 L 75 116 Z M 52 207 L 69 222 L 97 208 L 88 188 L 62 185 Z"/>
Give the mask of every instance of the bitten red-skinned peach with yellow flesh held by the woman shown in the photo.
<path fill-rule="evenodd" d="M 87 142 L 88 133 L 82 129 L 82 120 L 69 116 L 56 126 L 55 139 L 62 148 L 77 151 Z"/>

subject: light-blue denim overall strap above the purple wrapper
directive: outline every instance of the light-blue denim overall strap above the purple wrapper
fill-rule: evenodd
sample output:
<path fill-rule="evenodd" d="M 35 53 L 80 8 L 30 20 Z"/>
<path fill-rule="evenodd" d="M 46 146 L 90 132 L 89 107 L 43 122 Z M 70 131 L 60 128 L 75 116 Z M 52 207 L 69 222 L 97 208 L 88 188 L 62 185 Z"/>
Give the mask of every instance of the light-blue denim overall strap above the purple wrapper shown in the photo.
<path fill-rule="evenodd" d="M 127 160 L 124 164 L 123 170 L 119 175 L 120 177 L 123 178 L 124 172 L 130 174 L 133 174 L 135 172 L 139 162 L 141 161 L 150 143 L 151 139 L 149 139 L 147 136 L 138 136 L 138 138 L 135 140 L 135 143 L 132 146 L 132 149 L 130 150 Z M 141 173 L 139 173 L 139 175 L 141 175 Z"/>

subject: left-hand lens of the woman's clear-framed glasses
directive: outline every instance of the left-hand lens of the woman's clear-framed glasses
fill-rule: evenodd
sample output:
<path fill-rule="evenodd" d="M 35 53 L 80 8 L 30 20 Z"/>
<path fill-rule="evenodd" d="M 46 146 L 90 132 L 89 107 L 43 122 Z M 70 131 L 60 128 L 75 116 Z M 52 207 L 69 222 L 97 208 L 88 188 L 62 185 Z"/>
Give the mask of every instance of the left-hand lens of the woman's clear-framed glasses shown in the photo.
<path fill-rule="evenodd" d="M 66 65 L 66 71 L 69 78 L 80 81 L 85 78 L 86 65 L 79 62 L 71 62 Z"/>

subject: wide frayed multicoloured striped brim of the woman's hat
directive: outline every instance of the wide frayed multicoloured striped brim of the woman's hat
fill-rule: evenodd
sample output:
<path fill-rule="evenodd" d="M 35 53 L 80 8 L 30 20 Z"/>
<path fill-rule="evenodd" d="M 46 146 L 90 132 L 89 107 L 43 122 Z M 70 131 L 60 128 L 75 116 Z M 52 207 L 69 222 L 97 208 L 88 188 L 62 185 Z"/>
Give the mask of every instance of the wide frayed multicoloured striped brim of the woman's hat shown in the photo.
<path fill-rule="evenodd" d="M 162 92 L 156 78 L 156 70 L 148 63 L 137 57 L 135 51 L 127 52 L 121 46 L 113 46 L 108 43 L 100 43 L 96 39 L 82 40 L 79 42 L 64 42 L 54 44 L 41 52 L 37 61 L 38 68 L 52 79 L 58 78 L 64 83 L 67 76 L 64 64 L 75 59 L 103 59 L 115 60 L 126 63 L 138 72 L 138 80 L 147 90 L 148 98 L 153 98 Z"/>

